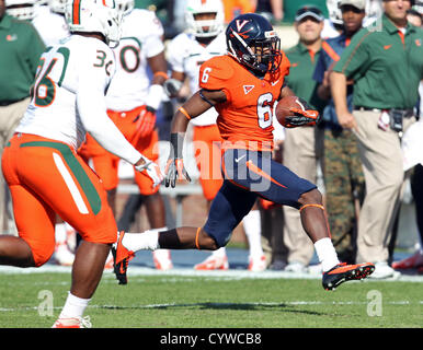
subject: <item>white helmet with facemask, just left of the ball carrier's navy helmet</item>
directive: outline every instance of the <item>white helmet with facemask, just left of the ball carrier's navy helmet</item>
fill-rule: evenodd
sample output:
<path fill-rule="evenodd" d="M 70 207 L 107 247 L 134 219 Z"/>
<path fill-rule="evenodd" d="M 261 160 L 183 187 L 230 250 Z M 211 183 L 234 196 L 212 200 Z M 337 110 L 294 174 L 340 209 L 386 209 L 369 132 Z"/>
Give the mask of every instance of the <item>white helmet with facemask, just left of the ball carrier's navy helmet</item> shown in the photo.
<path fill-rule="evenodd" d="M 216 15 L 214 20 L 197 21 L 195 16 L 199 13 L 216 13 Z M 224 4 L 221 0 L 187 0 L 185 21 L 187 30 L 195 36 L 216 36 L 224 30 Z M 208 27 L 208 31 L 204 31 L 203 27 Z"/>

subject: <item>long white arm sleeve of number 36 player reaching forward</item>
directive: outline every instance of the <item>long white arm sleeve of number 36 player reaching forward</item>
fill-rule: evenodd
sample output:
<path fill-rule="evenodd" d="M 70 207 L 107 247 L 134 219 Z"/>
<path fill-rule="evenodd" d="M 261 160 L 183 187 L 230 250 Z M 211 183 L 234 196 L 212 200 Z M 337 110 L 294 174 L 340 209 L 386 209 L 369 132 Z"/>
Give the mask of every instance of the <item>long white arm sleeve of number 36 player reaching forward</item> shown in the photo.
<path fill-rule="evenodd" d="M 77 108 L 85 130 L 106 151 L 135 164 L 141 154 L 125 139 L 106 114 L 104 90 L 107 77 L 105 68 L 94 67 L 90 60 L 83 68 L 79 75 Z"/>

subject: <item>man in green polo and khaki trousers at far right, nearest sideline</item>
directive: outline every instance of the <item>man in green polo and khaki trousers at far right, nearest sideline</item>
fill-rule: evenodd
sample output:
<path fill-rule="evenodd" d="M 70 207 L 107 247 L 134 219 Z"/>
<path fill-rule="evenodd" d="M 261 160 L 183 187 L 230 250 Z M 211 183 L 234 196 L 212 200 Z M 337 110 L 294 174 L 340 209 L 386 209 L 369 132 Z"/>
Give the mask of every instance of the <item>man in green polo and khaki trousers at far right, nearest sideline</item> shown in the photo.
<path fill-rule="evenodd" d="M 393 276 L 387 260 L 404 175 L 400 136 L 415 121 L 423 78 L 423 32 L 407 22 L 410 1 L 382 5 L 380 27 L 358 32 L 330 75 L 339 121 L 357 136 L 366 179 L 357 261 L 376 262 L 376 278 Z M 353 114 L 346 105 L 347 79 L 354 80 Z"/>

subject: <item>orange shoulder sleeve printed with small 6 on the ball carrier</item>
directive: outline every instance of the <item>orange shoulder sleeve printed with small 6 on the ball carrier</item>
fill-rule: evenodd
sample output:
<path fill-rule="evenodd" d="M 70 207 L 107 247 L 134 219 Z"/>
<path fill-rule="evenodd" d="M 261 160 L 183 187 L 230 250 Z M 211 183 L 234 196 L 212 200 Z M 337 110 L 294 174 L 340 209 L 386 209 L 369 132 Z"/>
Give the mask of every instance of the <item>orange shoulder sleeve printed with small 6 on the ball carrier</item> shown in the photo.
<path fill-rule="evenodd" d="M 230 78 L 233 75 L 233 69 L 226 65 L 222 56 L 214 57 L 205 61 L 199 68 L 199 88 L 206 90 L 224 91 L 227 101 L 231 100 Z"/>

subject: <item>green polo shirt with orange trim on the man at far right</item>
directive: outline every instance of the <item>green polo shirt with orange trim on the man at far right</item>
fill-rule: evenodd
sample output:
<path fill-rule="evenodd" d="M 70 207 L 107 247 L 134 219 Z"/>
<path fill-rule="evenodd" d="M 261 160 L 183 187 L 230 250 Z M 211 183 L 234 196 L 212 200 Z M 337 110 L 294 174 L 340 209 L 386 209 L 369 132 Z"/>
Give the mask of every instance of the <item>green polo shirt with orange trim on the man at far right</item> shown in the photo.
<path fill-rule="evenodd" d="M 355 106 L 412 108 L 423 79 L 423 31 L 408 24 L 405 35 L 386 16 L 381 30 L 363 28 L 342 52 L 334 71 L 354 80 Z"/>

